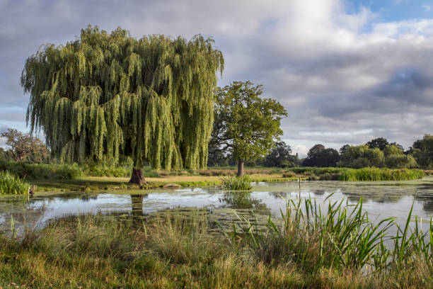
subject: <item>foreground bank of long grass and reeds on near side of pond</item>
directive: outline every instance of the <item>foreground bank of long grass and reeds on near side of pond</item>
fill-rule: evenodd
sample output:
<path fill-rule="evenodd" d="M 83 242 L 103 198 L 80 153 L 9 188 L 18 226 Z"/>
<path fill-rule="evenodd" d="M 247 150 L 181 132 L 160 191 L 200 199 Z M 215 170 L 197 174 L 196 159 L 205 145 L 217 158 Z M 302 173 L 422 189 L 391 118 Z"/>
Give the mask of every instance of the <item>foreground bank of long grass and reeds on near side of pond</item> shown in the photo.
<path fill-rule="evenodd" d="M 289 203 L 282 224 L 269 220 L 265 230 L 243 220 L 221 232 L 207 215 L 159 216 L 69 217 L 21 239 L 0 236 L 0 286 L 433 288 L 432 229 L 378 227 L 362 203 Z"/>

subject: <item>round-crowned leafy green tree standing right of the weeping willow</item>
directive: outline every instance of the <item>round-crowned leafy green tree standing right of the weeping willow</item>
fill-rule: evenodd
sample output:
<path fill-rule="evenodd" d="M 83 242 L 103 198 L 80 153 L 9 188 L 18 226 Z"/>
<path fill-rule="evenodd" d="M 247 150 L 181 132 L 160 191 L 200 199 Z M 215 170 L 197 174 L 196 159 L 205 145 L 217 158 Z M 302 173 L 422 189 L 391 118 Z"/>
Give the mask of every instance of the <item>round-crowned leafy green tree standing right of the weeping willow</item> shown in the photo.
<path fill-rule="evenodd" d="M 279 126 L 287 111 L 274 99 L 261 95 L 262 86 L 253 86 L 250 81 L 234 81 L 217 91 L 209 147 L 231 152 L 238 161 L 238 176 L 243 176 L 244 160 L 264 157 L 282 135 Z"/>

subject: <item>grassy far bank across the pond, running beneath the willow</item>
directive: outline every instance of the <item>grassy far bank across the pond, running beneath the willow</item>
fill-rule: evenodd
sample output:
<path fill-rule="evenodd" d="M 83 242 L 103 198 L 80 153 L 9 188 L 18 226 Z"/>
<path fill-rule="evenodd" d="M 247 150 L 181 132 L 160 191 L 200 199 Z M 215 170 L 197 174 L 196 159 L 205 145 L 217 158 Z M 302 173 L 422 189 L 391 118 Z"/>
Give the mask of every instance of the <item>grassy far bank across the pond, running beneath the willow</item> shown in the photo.
<path fill-rule="evenodd" d="M 155 171 L 144 168 L 149 186 L 128 183 L 129 166 L 78 166 L 77 164 L 24 164 L 0 161 L 0 171 L 10 171 L 28 183 L 37 185 L 37 191 L 103 191 L 113 189 L 158 188 L 166 183 L 180 186 L 221 186 L 222 179 L 236 174 L 232 167 L 202 171 Z M 298 178 L 309 181 L 410 181 L 420 179 L 417 169 L 347 169 L 347 168 L 246 168 L 253 182 L 284 182 Z M 429 174 L 426 171 L 425 174 Z"/>

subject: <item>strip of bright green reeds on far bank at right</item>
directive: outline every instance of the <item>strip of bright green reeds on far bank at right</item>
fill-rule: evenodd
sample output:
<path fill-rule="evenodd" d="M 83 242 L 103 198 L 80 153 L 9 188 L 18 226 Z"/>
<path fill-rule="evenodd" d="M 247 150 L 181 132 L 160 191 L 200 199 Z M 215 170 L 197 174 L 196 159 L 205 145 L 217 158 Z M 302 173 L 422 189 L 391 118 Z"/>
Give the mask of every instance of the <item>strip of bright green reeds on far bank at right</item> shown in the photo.
<path fill-rule="evenodd" d="M 340 181 L 412 181 L 423 176 L 420 169 L 345 169 L 341 172 Z"/>

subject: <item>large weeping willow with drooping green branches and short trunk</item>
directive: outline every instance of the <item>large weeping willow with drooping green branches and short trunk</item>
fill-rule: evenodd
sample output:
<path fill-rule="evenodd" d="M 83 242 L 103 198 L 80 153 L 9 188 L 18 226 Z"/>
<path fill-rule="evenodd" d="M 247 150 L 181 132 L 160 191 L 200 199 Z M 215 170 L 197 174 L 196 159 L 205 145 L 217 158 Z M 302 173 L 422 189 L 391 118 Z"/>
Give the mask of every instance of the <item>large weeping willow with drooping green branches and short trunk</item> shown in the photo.
<path fill-rule="evenodd" d="M 144 181 L 144 162 L 202 169 L 223 68 L 214 41 L 201 35 L 137 40 L 121 28 L 88 26 L 75 41 L 45 45 L 25 61 L 27 123 L 43 130 L 62 162 L 132 157 L 134 183 Z"/>

